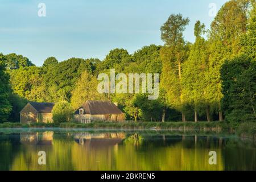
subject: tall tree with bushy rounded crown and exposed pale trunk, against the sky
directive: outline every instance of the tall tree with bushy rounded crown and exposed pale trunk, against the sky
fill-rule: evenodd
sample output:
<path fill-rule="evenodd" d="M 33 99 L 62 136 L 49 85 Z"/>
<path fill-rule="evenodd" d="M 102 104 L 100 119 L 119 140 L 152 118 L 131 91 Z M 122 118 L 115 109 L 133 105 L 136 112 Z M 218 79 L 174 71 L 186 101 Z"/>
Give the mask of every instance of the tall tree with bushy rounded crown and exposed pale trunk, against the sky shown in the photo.
<path fill-rule="evenodd" d="M 161 38 L 165 46 L 161 49 L 163 61 L 162 79 L 163 89 L 167 92 L 170 105 L 182 113 L 182 121 L 186 121 L 184 102 L 181 90 L 181 64 L 188 57 L 189 44 L 183 39 L 183 31 L 189 23 L 188 18 L 181 14 L 172 14 L 161 27 Z"/>

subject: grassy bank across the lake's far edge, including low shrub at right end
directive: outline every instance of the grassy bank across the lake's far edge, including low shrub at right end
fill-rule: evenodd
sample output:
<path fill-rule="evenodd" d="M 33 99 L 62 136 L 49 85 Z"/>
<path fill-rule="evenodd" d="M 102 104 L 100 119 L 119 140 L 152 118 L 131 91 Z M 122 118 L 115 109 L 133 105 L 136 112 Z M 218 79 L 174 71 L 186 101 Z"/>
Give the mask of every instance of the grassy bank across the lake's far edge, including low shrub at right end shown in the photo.
<path fill-rule="evenodd" d="M 174 131 L 235 131 L 240 137 L 256 139 L 256 123 L 230 126 L 226 122 L 93 122 L 93 123 L 0 123 L 1 128 L 62 128 L 62 129 L 156 129 Z"/>

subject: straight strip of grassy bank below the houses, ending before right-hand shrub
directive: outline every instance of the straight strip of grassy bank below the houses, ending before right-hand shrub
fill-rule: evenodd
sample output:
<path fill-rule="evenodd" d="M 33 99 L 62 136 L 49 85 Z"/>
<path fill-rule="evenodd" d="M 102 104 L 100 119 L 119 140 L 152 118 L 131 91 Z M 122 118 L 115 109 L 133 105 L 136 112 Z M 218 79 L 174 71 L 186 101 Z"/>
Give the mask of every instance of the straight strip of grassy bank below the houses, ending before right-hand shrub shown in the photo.
<path fill-rule="evenodd" d="M 65 129 L 165 129 L 165 130 L 203 130 L 221 131 L 229 130 L 225 122 L 123 122 L 123 123 L 1 123 L 0 128 L 21 128 L 21 127 L 60 127 Z"/>

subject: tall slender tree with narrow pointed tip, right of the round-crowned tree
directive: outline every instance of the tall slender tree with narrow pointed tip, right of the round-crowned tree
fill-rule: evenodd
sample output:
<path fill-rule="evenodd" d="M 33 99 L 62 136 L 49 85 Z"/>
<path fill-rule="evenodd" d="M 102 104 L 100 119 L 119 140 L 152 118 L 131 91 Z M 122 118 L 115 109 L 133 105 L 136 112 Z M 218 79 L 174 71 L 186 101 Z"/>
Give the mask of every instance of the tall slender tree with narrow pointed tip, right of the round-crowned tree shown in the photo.
<path fill-rule="evenodd" d="M 206 109 L 207 119 L 210 121 L 209 104 L 206 100 L 205 87 L 207 80 L 205 75 L 208 70 L 207 42 L 202 37 L 204 34 L 204 24 L 197 21 L 195 24 L 196 41 L 191 47 L 188 60 L 183 64 L 183 100 L 193 105 L 195 122 L 198 121 L 197 115 L 204 114 Z"/>

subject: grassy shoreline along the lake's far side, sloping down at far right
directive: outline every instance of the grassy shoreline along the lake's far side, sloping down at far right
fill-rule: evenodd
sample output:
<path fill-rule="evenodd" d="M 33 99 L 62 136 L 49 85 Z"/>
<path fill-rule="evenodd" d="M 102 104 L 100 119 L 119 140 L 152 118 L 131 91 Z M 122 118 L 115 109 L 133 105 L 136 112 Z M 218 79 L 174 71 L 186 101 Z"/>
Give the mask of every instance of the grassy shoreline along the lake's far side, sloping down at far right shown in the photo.
<path fill-rule="evenodd" d="M 93 123 L 0 123 L 0 129 L 76 129 L 76 130 L 147 130 L 174 131 L 177 133 L 226 133 L 256 140 L 255 134 L 234 129 L 226 122 L 93 122 Z"/>

